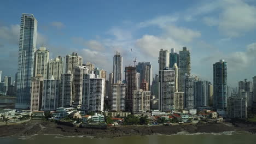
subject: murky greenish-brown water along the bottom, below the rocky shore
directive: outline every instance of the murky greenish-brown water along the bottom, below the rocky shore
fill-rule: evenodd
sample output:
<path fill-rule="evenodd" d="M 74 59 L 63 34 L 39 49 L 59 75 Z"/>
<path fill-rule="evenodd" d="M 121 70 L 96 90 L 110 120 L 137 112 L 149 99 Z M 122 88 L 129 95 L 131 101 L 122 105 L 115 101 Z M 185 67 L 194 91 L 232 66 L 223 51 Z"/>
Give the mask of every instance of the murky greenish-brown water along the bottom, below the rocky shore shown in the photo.
<path fill-rule="evenodd" d="M 149 135 L 149 136 L 126 136 L 118 137 L 115 139 L 96 139 L 90 136 L 61 136 L 61 135 L 32 135 L 32 136 L 19 136 L 19 137 L 2 137 L 0 138 L 0 143 L 19 143 L 19 144 L 32 144 L 32 143 L 56 143 L 56 144 L 72 144 L 72 143 L 93 143 L 93 144 L 155 144 L 155 143 L 189 143 L 189 144 L 200 144 L 200 143 L 209 143 L 209 144 L 236 144 L 236 143 L 245 143 L 245 144 L 255 144 L 256 135 L 246 132 L 239 131 L 229 131 L 223 133 L 178 133 L 175 135 Z"/>

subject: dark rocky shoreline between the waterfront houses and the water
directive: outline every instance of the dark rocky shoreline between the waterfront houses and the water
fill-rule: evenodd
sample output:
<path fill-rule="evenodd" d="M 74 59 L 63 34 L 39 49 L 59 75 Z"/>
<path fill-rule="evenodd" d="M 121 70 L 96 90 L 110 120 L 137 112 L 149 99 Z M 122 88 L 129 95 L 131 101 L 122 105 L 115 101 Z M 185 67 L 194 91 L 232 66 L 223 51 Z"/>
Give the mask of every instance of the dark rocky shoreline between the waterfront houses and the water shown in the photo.
<path fill-rule="evenodd" d="M 143 136 L 143 135 L 170 135 L 183 131 L 187 133 L 222 133 L 224 131 L 249 131 L 256 133 L 256 125 L 228 126 L 223 123 L 208 123 L 194 125 L 173 125 L 173 126 L 126 126 L 109 127 L 107 129 L 91 129 L 68 127 L 50 121 L 31 120 L 19 125 L 8 125 L 0 127 L 0 137 L 4 136 L 30 136 L 30 135 L 63 135 L 63 136 L 93 136 L 101 138 L 114 138 L 121 136 Z"/>

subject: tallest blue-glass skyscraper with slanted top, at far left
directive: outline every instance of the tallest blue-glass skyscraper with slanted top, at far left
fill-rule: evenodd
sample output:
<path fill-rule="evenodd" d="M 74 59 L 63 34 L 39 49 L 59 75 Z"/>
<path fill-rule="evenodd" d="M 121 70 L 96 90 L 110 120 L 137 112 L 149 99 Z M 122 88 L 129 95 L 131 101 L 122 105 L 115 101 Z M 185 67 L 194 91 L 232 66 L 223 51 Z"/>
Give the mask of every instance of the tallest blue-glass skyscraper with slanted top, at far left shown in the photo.
<path fill-rule="evenodd" d="M 30 107 L 31 77 L 34 70 L 34 53 L 37 43 L 37 20 L 33 14 L 22 14 L 17 73 L 16 109 Z"/>

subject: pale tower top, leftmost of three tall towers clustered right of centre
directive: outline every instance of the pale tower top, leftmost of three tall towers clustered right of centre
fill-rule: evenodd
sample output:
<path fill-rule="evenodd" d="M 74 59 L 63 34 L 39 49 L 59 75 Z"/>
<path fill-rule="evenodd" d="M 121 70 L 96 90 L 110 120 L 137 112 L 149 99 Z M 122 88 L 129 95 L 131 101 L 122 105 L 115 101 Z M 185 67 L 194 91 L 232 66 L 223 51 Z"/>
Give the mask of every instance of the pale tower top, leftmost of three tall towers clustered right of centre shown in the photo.
<path fill-rule="evenodd" d="M 168 50 L 161 49 L 159 51 L 159 70 L 163 70 L 170 65 L 170 52 Z"/>

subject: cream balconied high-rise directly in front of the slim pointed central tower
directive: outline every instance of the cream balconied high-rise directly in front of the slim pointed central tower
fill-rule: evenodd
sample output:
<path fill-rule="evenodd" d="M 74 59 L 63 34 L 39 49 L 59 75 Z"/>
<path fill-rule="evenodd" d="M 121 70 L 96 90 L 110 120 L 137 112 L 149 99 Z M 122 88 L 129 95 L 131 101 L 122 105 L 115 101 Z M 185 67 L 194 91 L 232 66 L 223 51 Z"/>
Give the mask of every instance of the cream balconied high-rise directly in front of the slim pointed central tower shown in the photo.
<path fill-rule="evenodd" d="M 125 84 L 120 81 L 112 84 L 111 111 L 125 111 Z"/>

